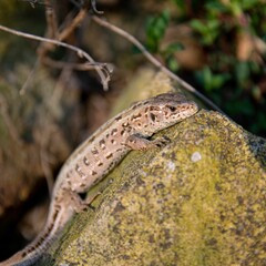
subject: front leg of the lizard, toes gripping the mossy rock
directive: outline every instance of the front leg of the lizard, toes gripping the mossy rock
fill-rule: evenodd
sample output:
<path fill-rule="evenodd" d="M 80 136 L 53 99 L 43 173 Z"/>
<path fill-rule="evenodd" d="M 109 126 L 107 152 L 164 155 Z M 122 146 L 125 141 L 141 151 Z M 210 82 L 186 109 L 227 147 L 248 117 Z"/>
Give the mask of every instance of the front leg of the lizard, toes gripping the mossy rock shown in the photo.
<path fill-rule="evenodd" d="M 129 146 L 132 150 L 136 151 L 145 151 L 152 147 L 161 147 L 166 145 L 170 142 L 166 137 L 156 137 L 155 140 L 147 140 L 141 134 L 133 134 L 130 135 L 126 140 L 124 145 Z"/>

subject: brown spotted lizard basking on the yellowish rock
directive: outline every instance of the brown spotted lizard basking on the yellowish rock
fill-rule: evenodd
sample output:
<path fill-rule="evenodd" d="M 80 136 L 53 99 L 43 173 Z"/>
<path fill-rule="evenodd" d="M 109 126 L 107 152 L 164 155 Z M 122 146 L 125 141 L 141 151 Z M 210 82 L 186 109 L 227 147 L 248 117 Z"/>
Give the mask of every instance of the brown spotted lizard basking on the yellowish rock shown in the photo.
<path fill-rule="evenodd" d="M 132 150 L 163 146 L 168 140 L 151 136 L 198 111 L 195 102 L 176 93 L 163 93 L 136 102 L 100 126 L 66 160 L 59 172 L 48 218 L 37 238 L 0 266 L 25 266 L 37 262 L 75 213 L 89 206 L 82 198 Z"/>

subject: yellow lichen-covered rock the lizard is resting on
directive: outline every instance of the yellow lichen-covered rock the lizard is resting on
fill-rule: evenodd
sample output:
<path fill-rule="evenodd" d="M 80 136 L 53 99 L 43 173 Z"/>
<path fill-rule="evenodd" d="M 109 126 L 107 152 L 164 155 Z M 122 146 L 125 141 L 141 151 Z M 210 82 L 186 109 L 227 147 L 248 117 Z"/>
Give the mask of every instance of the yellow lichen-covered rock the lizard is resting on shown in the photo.
<path fill-rule="evenodd" d="M 41 265 L 266 265 L 266 141 L 204 110 L 158 135 L 171 143 L 131 152 Z"/>

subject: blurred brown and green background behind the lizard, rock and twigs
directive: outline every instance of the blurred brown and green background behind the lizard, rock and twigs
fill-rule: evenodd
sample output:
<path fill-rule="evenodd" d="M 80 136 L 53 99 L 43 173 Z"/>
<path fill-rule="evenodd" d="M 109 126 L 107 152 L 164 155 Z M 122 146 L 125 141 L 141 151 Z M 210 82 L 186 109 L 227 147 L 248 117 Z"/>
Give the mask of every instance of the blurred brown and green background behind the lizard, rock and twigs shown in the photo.
<path fill-rule="evenodd" d="M 96 8 L 236 123 L 266 136 L 265 0 L 98 0 Z M 0 1 L 1 25 L 61 38 L 114 69 L 105 92 L 95 71 L 73 66 L 85 62 L 73 51 L 0 31 L 0 259 L 41 229 L 64 160 L 129 82 L 153 68 L 92 13 L 90 1 Z"/>

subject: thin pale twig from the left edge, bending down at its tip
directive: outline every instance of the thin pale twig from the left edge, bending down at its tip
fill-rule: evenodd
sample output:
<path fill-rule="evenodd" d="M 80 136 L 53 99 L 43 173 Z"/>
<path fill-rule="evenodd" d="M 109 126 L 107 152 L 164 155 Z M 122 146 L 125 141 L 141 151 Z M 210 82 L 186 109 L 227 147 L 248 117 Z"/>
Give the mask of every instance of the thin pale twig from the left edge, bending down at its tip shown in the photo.
<path fill-rule="evenodd" d="M 92 63 L 92 64 L 94 65 L 98 74 L 99 74 L 100 78 L 101 78 L 101 82 L 102 82 L 103 89 L 104 89 L 104 90 L 108 90 L 108 89 L 109 89 L 110 71 L 109 71 L 109 69 L 108 69 L 108 64 L 106 64 L 106 63 L 95 62 L 95 61 L 91 58 L 91 55 L 89 55 L 89 54 L 88 54 L 85 51 L 83 51 L 82 49 L 76 48 L 76 47 L 71 45 L 71 44 L 68 44 L 68 43 L 65 43 L 65 42 L 52 40 L 52 39 L 44 38 L 44 37 L 33 35 L 33 34 L 25 33 L 25 32 L 22 32 L 22 31 L 17 31 L 17 30 L 7 28 L 7 27 L 4 27 L 4 25 L 0 25 L 0 30 L 6 31 L 6 32 L 9 32 L 9 33 L 12 33 L 12 34 L 16 34 L 16 35 L 19 35 L 19 37 L 23 37 L 23 38 L 27 38 L 27 39 L 32 39 L 32 40 L 42 41 L 42 42 L 49 42 L 49 43 L 52 43 L 52 44 L 55 44 L 55 45 L 59 45 L 59 47 L 64 47 L 64 48 L 66 48 L 66 49 L 70 49 L 70 50 L 72 50 L 72 51 L 76 52 L 76 54 L 78 54 L 80 58 L 86 59 L 90 63 Z"/>

